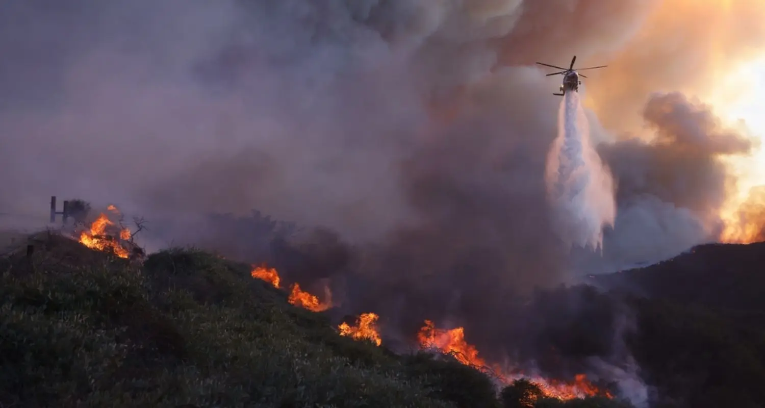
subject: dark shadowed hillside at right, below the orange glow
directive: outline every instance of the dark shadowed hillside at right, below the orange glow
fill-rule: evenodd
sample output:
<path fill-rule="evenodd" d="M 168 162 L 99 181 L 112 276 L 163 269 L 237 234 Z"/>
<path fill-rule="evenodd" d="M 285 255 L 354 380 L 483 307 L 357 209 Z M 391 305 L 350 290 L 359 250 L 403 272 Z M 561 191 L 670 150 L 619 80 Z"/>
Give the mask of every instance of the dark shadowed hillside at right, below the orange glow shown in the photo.
<path fill-rule="evenodd" d="M 591 277 L 630 299 L 630 349 L 662 395 L 656 406 L 765 406 L 763 268 L 765 243 L 708 244 Z"/>

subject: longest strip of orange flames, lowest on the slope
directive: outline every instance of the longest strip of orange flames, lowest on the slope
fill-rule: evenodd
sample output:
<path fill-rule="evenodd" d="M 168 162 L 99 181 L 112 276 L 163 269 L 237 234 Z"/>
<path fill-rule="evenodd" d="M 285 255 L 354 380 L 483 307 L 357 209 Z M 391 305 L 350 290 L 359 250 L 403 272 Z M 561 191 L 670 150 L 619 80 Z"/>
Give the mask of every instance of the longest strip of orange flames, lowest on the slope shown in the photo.
<path fill-rule="evenodd" d="M 512 384 L 513 380 L 526 377 L 532 383 L 539 386 L 546 397 L 557 398 L 558 400 L 573 400 L 575 398 L 593 397 L 602 395 L 613 398 L 613 395 L 606 390 L 600 390 L 587 379 L 585 374 L 577 374 L 573 382 L 564 382 L 558 380 L 546 380 L 537 376 L 526 376 L 523 374 L 505 374 L 498 365 L 487 366 L 483 358 L 478 357 L 478 350 L 473 345 L 465 341 L 464 328 L 442 329 L 436 328 L 430 320 L 425 320 L 423 326 L 417 334 L 420 347 L 424 349 L 438 349 L 444 354 L 451 354 L 457 361 L 465 365 L 476 367 L 478 370 L 493 374 L 500 382 Z"/>

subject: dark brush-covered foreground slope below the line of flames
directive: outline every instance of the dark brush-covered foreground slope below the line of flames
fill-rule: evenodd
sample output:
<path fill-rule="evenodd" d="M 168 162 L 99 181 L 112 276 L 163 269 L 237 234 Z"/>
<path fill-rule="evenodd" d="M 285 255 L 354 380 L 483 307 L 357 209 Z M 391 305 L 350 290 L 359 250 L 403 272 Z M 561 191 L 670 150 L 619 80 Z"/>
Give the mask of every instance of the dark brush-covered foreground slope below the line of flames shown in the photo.
<path fill-rule="evenodd" d="M 136 264 L 44 234 L 0 272 L 0 406 L 623 406 L 529 405 L 529 384 L 497 393 L 457 361 L 343 338 L 200 250 Z"/>

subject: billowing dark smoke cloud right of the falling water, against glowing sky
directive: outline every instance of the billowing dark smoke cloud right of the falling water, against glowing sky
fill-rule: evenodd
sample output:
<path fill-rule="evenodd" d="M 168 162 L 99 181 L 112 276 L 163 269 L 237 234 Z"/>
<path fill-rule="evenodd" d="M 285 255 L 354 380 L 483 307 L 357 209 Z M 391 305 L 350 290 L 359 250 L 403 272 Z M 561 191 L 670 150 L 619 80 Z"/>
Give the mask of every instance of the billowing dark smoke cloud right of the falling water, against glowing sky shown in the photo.
<path fill-rule="evenodd" d="M 657 262 L 714 241 L 735 187 L 721 158 L 753 147 L 747 135 L 722 126 L 711 106 L 681 93 L 650 95 L 643 119 L 653 130 L 650 142 L 600 145 L 619 183 L 619 208 L 614 230 L 605 233 L 604 259 L 585 263 L 591 272 Z"/>

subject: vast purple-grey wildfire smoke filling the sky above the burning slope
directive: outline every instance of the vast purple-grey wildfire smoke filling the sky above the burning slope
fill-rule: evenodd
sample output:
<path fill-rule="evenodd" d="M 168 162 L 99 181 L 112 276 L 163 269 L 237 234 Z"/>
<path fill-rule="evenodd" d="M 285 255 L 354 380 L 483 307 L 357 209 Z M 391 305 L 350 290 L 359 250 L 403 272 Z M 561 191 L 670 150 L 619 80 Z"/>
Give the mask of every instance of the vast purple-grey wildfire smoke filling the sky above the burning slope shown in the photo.
<path fill-rule="evenodd" d="M 155 243 L 250 238 L 198 224 L 207 211 L 325 226 L 337 236 L 314 246 L 342 250 L 288 277 L 335 276 L 351 312 L 405 335 L 448 318 L 501 354 L 520 335 L 505 328 L 518 318 L 509 303 L 571 276 L 545 191 L 557 83 L 530 65 L 572 52 L 610 64 L 660 4 L 0 2 L 0 212 L 44 220 L 54 194 L 115 203 L 175 226 L 155 228 Z M 614 141 L 599 146 L 619 184 L 604 236 L 614 264 L 713 237 L 727 183 L 717 158 L 746 151 L 695 126 L 709 116 L 680 109 L 692 103 L 646 90 L 629 95 L 649 101 L 656 142 L 591 115 L 607 132 L 593 139 Z M 608 123 L 640 114 L 616 107 Z"/>

